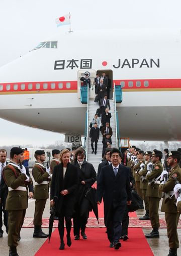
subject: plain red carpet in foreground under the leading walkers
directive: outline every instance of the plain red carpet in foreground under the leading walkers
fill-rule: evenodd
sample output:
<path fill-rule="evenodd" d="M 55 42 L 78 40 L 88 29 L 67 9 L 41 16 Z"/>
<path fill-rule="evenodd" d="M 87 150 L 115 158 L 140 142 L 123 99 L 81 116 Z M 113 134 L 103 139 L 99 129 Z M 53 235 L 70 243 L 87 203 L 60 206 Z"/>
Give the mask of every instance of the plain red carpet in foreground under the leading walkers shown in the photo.
<path fill-rule="evenodd" d="M 50 243 L 48 244 L 47 239 L 35 256 L 57 256 L 58 254 L 65 256 L 107 256 L 113 255 L 113 253 L 119 253 L 124 256 L 153 256 L 141 228 L 129 229 L 129 239 L 126 242 L 121 242 L 122 247 L 119 250 L 109 247 L 109 241 L 105 233 L 105 228 L 87 228 L 86 234 L 88 239 L 80 239 L 78 241 L 73 240 L 72 231 L 73 230 L 71 230 L 71 247 L 68 247 L 65 244 L 65 249 L 59 250 L 60 238 L 58 229 L 55 229 L 55 231 L 52 233 Z M 66 240 L 64 242 L 66 242 Z"/>

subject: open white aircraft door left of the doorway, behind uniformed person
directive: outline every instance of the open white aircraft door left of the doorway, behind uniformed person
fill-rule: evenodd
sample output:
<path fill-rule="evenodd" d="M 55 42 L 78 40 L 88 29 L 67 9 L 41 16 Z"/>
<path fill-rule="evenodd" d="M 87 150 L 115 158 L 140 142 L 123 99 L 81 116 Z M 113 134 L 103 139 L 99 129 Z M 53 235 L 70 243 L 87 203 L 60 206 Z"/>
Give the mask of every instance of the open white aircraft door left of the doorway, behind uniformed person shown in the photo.
<path fill-rule="evenodd" d="M 86 69 L 81 69 L 78 70 L 77 74 L 77 93 L 78 93 L 78 99 L 80 99 L 80 88 L 83 86 L 83 81 L 80 80 L 81 77 L 84 77 L 85 74 L 88 73 L 89 76 L 88 78 L 91 79 L 91 89 L 89 89 L 89 99 L 94 100 L 96 97 L 95 94 L 95 84 L 94 84 L 94 78 L 96 77 L 96 70 L 91 69 L 91 70 L 86 70 Z"/>

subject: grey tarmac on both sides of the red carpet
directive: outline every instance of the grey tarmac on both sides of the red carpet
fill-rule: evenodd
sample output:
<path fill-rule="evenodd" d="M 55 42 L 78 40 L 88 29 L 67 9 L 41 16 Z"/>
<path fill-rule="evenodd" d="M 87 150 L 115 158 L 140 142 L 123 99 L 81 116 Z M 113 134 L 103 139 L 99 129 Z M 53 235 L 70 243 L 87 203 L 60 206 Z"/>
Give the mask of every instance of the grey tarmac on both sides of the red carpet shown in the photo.
<path fill-rule="evenodd" d="M 160 218 L 164 218 L 164 213 L 160 212 L 161 207 L 161 201 L 160 200 L 160 206 L 159 206 L 159 216 Z M 47 200 L 46 207 L 43 213 L 43 217 L 49 217 L 50 216 L 50 210 L 49 210 L 49 199 Z M 34 216 L 34 210 L 35 210 L 35 200 L 29 199 L 28 201 L 28 209 L 26 211 L 26 217 L 33 217 Z M 137 217 L 143 216 L 145 213 L 144 210 L 138 210 L 136 211 Z M 5 231 L 5 226 L 3 226 L 4 234 L 3 237 L 0 238 L 0 255 L 1 256 L 8 256 L 9 255 L 9 247 L 8 247 L 8 235 Z M 48 233 L 47 228 L 42 229 L 45 233 Z M 150 233 L 152 229 L 150 228 L 142 228 L 144 234 Z M 45 242 L 46 239 L 44 238 L 33 238 L 33 228 L 22 228 L 21 230 L 21 240 L 19 242 L 19 246 L 17 247 L 17 252 L 19 256 L 34 256 L 35 253 L 39 250 L 39 248 L 42 246 L 42 244 Z M 128 230 L 129 232 L 129 230 Z M 181 228 L 177 229 L 178 232 L 178 238 L 181 239 Z M 159 229 L 160 237 L 159 238 L 152 238 L 147 239 L 149 246 L 155 256 L 167 256 L 169 247 L 168 247 L 168 238 L 167 238 L 167 231 L 166 228 L 160 228 Z M 71 231 L 72 236 L 72 231 Z M 128 235 L 129 236 L 129 235 Z M 177 255 L 181 255 L 181 246 L 177 250 Z M 146 255 L 145 255 L 146 256 Z"/>

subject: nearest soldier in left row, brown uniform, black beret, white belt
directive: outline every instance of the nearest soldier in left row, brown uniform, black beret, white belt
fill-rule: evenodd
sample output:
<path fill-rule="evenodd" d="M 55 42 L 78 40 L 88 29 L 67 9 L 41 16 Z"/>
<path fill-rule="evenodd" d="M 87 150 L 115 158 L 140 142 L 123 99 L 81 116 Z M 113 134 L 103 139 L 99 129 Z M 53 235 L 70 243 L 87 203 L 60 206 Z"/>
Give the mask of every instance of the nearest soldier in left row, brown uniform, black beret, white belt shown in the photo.
<path fill-rule="evenodd" d="M 28 193 L 26 184 L 32 183 L 26 175 L 26 169 L 21 163 L 24 160 L 22 148 L 13 147 L 10 151 L 10 163 L 3 169 L 3 177 L 8 186 L 6 210 L 8 211 L 9 231 L 8 246 L 9 256 L 18 256 L 17 246 L 23 225 L 26 209 L 28 207 Z"/>

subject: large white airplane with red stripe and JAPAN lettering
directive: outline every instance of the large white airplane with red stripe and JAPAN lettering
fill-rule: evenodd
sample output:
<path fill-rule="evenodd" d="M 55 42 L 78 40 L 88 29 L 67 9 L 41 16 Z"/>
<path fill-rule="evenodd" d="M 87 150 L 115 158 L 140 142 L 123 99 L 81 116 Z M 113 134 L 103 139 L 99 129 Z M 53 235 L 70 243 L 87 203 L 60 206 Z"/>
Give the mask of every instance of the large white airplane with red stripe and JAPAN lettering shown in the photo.
<path fill-rule="evenodd" d="M 181 139 L 181 34 L 179 29 L 61 32 L 0 68 L 0 117 L 44 130 L 83 135 L 86 104 L 80 77 L 103 71 L 113 88 L 121 137 Z M 95 103 L 96 104 L 96 103 Z"/>

